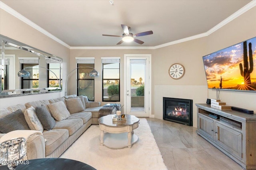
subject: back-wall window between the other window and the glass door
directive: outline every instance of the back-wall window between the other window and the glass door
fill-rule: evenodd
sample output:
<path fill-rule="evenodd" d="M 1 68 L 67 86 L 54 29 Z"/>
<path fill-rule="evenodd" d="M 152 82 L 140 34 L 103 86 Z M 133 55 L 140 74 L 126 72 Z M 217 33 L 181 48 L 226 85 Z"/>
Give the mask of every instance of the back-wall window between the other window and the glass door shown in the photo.
<path fill-rule="evenodd" d="M 102 57 L 102 101 L 120 102 L 120 57 Z"/>

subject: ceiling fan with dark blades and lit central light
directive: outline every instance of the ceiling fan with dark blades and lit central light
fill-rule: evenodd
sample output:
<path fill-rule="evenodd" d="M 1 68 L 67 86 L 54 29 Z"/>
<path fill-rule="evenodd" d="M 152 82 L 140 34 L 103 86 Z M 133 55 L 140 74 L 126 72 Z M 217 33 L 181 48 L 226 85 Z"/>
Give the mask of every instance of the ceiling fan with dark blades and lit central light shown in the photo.
<path fill-rule="evenodd" d="M 140 37 L 140 36 L 145 36 L 145 35 L 150 35 L 153 34 L 153 31 L 146 31 L 146 32 L 142 32 L 142 33 L 130 33 L 129 30 L 131 29 L 130 27 L 128 27 L 127 25 L 123 25 L 121 24 L 122 29 L 124 31 L 124 33 L 121 35 L 107 35 L 107 34 L 102 34 L 103 36 L 110 36 L 110 37 L 122 37 L 122 40 L 119 41 L 116 45 L 120 45 L 123 42 L 131 42 L 134 41 L 138 44 L 143 44 L 143 41 L 140 41 L 139 39 L 136 39 L 134 37 Z"/>

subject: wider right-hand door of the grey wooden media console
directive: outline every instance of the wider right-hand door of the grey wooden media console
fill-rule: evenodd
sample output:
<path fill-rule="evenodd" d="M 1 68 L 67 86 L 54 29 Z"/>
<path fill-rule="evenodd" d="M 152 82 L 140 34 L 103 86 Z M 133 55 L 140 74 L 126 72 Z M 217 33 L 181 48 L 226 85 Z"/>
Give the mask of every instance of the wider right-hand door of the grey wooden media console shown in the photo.
<path fill-rule="evenodd" d="M 234 156 L 242 159 L 242 133 L 228 127 L 225 123 L 216 122 L 215 141 Z"/>

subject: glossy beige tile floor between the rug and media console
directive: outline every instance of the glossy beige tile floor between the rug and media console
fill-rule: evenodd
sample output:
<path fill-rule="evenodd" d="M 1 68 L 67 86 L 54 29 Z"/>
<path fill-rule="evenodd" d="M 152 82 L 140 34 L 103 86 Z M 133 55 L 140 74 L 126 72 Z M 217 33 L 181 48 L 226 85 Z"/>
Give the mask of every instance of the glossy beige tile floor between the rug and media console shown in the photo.
<path fill-rule="evenodd" d="M 196 134 L 196 128 L 147 118 L 168 170 L 242 170 L 242 166 Z"/>

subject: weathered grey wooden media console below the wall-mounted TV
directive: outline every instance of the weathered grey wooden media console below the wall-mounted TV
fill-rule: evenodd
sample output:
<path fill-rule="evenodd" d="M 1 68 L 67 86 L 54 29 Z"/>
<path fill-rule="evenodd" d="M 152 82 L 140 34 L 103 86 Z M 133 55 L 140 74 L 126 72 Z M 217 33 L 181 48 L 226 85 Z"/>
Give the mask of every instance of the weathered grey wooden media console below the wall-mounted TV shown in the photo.
<path fill-rule="evenodd" d="M 256 169 L 256 115 L 196 106 L 196 133 L 243 168 Z"/>

